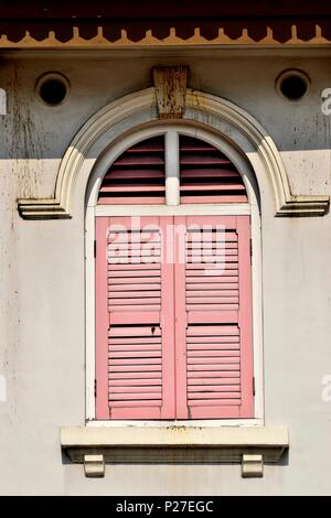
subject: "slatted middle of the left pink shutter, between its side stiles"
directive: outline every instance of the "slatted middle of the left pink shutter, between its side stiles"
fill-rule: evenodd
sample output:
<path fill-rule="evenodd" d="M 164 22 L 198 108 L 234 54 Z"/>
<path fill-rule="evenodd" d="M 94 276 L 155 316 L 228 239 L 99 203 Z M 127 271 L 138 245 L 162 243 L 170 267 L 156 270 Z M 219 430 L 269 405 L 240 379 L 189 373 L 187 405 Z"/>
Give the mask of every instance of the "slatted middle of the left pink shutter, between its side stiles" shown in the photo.
<path fill-rule="evenodd" d="M 109 279 L 116 279 L 117 282 L 108 284 L 110 419 L 160 419 L 163 363 L 160 325 L 161 263 L 160 255 L 152 263 L 146 263 L 150 258 L 148 253 L 143 255 L 148 241 L 159 242 L 159 219 L 152 217 L 135 222 L 128 217 L 117 217 L 111 218 L 111 224 L 119 230 L 110 234 L 108 244 L 108 274 Z M 149 239 L 142 231 L 145 225 L 149 225 Z M 120 239 L 124 237 L 120 227 L 126 230 L 124 242 Z M 138 282 L 140 276 L 145 276 L 146 282 L 141 290 L 127 291 L 128 284 L 122 284 L 122 280 L 128 274 L 135 276 L 131 280 L 137 279 Z M 156 288 L 151 289 L 150 283 L 156 284 Z M 129 349 L 118 349 L 119 341 L 125 342 Z M 113 386 L 113 377 L 118 374 L 130 376 L 122 378 L 126 381 L 119 389 L 115 389 L 117 386 Z M 141 380 L 150 379 L 153 380 L 152 385 L 146 385 L 146 389 L 141 390 Z"/>

